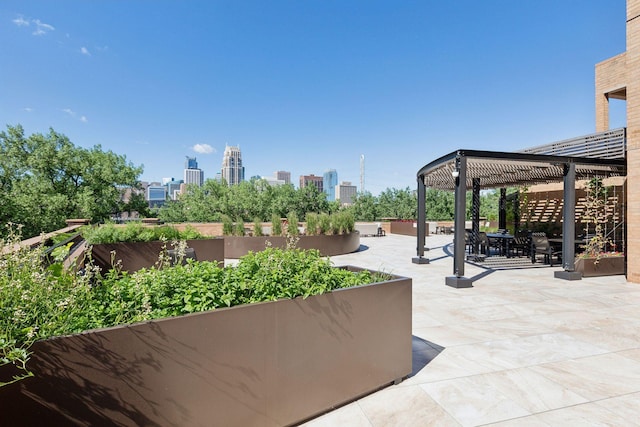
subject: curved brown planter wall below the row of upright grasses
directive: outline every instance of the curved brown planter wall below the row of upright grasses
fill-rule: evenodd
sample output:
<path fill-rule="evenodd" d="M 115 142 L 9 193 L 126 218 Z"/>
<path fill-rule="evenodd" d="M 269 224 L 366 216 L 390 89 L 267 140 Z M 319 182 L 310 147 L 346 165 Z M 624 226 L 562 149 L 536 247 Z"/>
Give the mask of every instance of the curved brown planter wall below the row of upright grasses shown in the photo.
<path fill-rule="evenodd" d="M 360 234 L 336 234 L 323 236 L 297 236 L 296 247 L 300 249 L 318 249 L 322 256 L 348 254 L 360 249 Z M 285 248 L 286 237 L 282 236 L 224 236 L 225 258 L 240 258 L 247 252 L 259 252 L 266 248 L 267 242 L 274 248 Z"/>

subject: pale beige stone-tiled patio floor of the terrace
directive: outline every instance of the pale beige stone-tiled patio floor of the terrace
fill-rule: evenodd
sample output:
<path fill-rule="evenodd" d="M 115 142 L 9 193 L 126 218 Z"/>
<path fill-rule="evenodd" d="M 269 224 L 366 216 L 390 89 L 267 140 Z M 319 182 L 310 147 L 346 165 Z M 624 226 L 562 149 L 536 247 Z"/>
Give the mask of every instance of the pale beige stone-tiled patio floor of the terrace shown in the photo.
<path fill-rule="evenodd" d="M 474 287 L 444 284 L 451 236 L 362 238 L 333 257 L 413 278 L 413 372 L 305 426 L 638 425 L 640 285 L 624 276 L 554 279 L 560 267 L 467 264 Z"/>

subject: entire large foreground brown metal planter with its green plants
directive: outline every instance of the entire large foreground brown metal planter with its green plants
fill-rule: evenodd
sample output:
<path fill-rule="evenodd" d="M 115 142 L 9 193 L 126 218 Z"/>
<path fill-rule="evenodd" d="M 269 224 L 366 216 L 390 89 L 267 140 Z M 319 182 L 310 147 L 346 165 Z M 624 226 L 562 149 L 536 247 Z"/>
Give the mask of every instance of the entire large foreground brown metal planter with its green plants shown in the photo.
<path fill-rule="evenodd" d="M 8 424 L 285 425 L 411 372 L 411 280 L 317 251 L 105 274 L 43 269 L 38 249 L 0 261 Z"/>

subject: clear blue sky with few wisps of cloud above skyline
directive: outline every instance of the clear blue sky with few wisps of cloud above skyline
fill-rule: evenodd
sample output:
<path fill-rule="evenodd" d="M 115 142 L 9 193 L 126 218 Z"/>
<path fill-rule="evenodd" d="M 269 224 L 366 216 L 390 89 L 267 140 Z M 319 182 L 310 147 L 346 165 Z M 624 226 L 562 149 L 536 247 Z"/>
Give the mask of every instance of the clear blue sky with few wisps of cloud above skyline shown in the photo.
<path fill-rule="evenodd" d="M 0 117 L 182 177 L 225 145 L 247 177 L 415 187 L 457 148 L 594 132 L 594 65 L 624 0 L 0 1 Z M 611 126 L 625 125 L 624 102 Z M 206 152 L 209 151 L 209 152 Z"/>

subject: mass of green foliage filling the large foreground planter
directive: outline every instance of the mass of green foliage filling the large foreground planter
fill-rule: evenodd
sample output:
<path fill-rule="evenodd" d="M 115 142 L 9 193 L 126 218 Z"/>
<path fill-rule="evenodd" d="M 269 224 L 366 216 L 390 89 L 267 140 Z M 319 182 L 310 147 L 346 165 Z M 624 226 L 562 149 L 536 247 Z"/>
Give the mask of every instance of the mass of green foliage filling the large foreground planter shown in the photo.
<path fill-rule="evenodd" d="M 387 279 L 333 268 L 317 250 L 276 248 L 249 253 L 236 267 L 189 259 L 100 276 L 89 264 L 79 275 L 44 269 L 42 249 L 14 250 L 20 238 L 10 236 L 0 240 L 0 366 L 13 364 L 23 373 L 0 386 L 32 375 L 28 348 L 40 339 Z"/>

